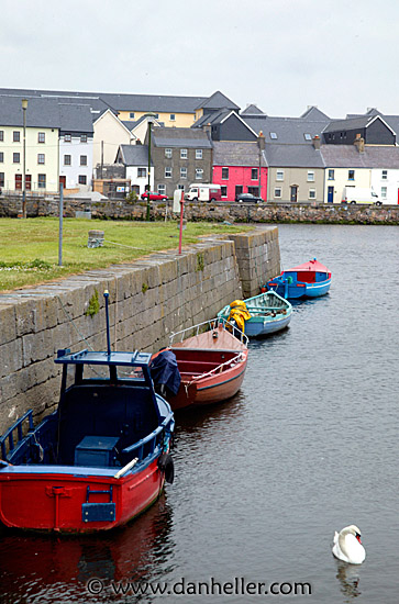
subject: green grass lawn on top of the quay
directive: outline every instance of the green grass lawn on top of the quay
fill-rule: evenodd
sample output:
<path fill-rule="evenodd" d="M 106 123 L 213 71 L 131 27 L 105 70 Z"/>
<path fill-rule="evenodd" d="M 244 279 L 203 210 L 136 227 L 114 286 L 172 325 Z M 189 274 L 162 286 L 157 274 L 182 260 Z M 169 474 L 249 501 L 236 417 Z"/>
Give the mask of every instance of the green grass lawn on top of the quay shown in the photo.
<path fill-rule="evenodd" d="M 104 232 L 103 247 L 87 247 L 91 230 Z M 188 223 L 182 245 L 196 243 L 200 235 L 248 230 L 250 226 L 242 225 Z M 0 219 L 0 291 L 129 262 L 159 249 L 177 250 L 178 245 L 176 222 L 64 219 L 63 267 L 59 267 L 58 219 Z"/>

